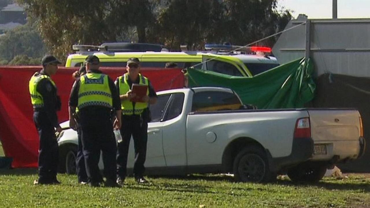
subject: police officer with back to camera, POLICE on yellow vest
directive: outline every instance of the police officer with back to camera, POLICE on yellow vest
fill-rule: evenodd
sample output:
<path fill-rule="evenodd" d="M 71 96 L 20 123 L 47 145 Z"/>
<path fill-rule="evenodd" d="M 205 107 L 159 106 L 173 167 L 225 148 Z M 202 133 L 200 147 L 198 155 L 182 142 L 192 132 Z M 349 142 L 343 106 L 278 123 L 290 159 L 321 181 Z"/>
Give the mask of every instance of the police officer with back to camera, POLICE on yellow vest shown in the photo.
<path fill-rule="evenodd" d="M 86 72 L 76 80 L 70 94 L 70 127 L 76 130 L 75 108 L 78 107 L 81 125 L 81 141 L 85 158 L 88 182 L 93 187 L 100 186 L 98 162 L 102 151 L 104 163 L 104 182 L 106 187 L 120 187 L 116 183 L 116 143 L 113 137 L 115 129 L 121 127 L 120 99 L 113 81 L 99 70 L 100 61 L 96 56 L 85 59 Z M 116 119 L 112 125 L 111 110 Z"/>

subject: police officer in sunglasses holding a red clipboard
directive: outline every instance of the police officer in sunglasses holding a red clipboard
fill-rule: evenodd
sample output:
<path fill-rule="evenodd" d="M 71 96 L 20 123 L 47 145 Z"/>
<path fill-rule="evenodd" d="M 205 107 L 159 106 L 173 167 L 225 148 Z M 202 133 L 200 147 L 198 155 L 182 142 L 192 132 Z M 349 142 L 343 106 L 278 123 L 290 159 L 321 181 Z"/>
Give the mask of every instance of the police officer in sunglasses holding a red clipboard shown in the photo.
<path fill-rule="evenodd" d="M 118 77 L 115 81 L 117 91 L 120 93 L 122 109 L 122 142 L 118 143 L 117 182 L 122 184 L 127 175 L 128 147 L 132 135 L 135 147 L 134 177 L 138 183 L 146 183 L 147 180 L 145 180 L 143 174 L 148 140 L 148 103 L 155 104 L 157 94 L 148 78 L 139 74 L 140 62 L 138 58 L 129 58 L 126 70 L 127 73 Z M 142 98 L 141 102 L 130 101 L 131 98 L 136 96 L 130 90 L 134 83 L 148 85 L 147 95 Z"/>

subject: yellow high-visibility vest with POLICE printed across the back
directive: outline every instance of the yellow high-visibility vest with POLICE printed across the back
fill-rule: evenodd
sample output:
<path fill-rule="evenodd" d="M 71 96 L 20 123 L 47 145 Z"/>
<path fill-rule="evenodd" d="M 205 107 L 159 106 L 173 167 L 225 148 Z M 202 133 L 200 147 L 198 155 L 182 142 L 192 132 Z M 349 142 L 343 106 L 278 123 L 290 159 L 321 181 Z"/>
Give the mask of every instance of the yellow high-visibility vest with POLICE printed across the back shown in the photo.
<path fill-rule="evenodd" d="M 112 92 L 107 75 L 87 73 L 80 77 L 77 107 L 81 110 L 87 106 L 112 108 Z"/>

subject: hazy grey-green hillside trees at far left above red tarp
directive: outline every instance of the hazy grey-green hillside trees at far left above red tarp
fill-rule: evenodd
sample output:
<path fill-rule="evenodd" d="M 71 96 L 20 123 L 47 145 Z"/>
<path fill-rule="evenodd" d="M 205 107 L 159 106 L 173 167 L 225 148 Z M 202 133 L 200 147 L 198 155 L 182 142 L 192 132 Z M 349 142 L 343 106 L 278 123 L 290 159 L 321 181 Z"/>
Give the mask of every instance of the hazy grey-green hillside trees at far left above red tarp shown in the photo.
<path fill-rule="evenodd" d="M 11 62 L 11 64 L 17 63 L 17 65 L 21 63 L 27 64 L 30 58 L 38 58 L 38 62 L 40 62 L 44 54 L 44 43 L 37 29 L 31 23 L 8 30 L 4 35 L 0 36 L 1 64 L 7 64 L 7 62 Z M 15 57 L 17 59 L 12 61 Z M 29 57 L 28 60 L 25 57 Z M 21 62 L 21 60 L 26 62 Z"/>

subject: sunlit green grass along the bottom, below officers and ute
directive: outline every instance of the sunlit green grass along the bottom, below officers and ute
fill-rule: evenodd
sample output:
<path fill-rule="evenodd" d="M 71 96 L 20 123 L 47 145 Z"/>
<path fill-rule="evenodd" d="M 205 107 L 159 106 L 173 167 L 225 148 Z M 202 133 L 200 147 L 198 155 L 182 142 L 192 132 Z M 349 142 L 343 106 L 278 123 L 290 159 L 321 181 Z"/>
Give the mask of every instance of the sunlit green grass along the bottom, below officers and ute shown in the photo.
<path fill-rule="evenodd" d="M 0 170 L 1 207 L 354 207 L 370 206 L 370 179 L 349 175 L 315 185 L 236 183 L 226 175 L 148 177 L 138 185 L 127 178 L 122 188 L 78 185 L 75 175 L 58 175 L 61 185 L 33 185 L 35 169 Z"/>

